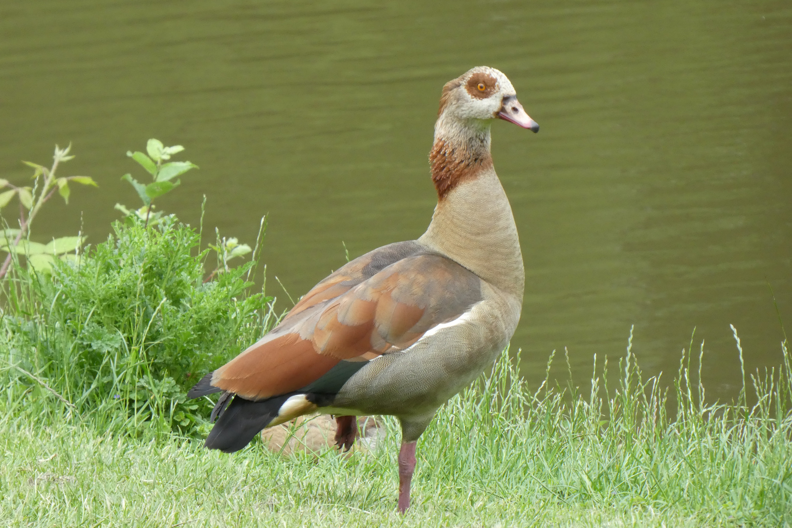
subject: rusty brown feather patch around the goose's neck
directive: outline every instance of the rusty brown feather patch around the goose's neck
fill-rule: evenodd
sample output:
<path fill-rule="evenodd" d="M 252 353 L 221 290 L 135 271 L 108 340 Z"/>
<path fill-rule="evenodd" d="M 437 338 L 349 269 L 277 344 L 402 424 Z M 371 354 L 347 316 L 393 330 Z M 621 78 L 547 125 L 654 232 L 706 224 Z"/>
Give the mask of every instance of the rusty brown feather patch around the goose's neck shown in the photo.
<path fill-rule="evenodd" d="M 444 199 L 452 188 L 492 167 L 493 159 L 488 151 L 470 152 L 464 147 L 437 139 L 429 153 L 429 163 L 437 198 Z"/>

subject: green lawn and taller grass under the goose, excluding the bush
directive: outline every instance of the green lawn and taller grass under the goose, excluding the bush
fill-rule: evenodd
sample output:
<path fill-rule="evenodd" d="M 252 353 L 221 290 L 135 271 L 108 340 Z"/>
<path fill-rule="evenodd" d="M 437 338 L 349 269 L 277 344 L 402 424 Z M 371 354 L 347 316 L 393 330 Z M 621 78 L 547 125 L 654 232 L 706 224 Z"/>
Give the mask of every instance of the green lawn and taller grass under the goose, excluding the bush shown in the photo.
<path fill-rule="evenodd" d="M 77 416 L 43 426 L 40 405 L 14 405 L 0 422 L 0 524 L 790 526 L 785 357 L 780 377 L 753 378 L 750 408 L 699 401 L 683 357 L 671 420 L 629 351 L 607 397 L 601 369 L 585 397 L 531 391 L 505 353 L 423 435 L 404 518 L 392 421 L 373 453 L 284 459 L 258 442 L 227 455 L 196 439 L 103 433 Z"/>

